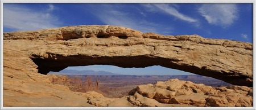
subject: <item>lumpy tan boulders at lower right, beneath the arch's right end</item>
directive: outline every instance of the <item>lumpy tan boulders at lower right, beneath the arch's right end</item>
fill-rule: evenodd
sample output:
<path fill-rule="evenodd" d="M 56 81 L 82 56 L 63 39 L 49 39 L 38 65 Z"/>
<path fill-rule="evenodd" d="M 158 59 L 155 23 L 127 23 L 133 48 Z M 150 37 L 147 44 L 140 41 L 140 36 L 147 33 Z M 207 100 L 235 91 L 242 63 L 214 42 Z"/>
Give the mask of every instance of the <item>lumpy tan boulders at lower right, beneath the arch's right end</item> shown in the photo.
<path fill-rule="evenodd" d="M 252 87 L 211 87 L 178 79 L 137 86 L 129 100 L 138 106 L 252 107 Z"/>

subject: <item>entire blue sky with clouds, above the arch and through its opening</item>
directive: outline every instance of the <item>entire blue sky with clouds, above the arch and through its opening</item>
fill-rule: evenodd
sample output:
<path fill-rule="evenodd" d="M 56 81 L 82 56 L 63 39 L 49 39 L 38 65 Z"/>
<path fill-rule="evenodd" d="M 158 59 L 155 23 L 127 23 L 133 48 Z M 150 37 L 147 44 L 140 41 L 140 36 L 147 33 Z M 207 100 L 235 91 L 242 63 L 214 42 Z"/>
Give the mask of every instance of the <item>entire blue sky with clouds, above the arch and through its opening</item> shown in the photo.
<path fill-rule="evenodd" d="M 119 25 L 164 35 L 198 34 L 205 38 L 253 42 L 253 4 L 68 4 L 3 5 L 3 32 L 69 25 Z M 109 65 L 68 67 L 123 74 L 189 74 L 159 66 L 123 69 Z"/>

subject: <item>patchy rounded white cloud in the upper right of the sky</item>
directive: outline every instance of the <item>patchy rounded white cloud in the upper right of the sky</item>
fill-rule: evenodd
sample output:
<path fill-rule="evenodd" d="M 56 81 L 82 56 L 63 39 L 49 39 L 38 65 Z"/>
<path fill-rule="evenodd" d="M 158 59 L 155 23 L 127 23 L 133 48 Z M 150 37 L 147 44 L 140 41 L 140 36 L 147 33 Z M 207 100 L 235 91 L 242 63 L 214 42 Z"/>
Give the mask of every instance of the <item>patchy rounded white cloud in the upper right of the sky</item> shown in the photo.
<path fill-rule="evenodd" d="M 201 16 L 209 24 L 228 27 L 238 18 L 238 9 L 235 4 L 205 4 L 199 7 Z"/>

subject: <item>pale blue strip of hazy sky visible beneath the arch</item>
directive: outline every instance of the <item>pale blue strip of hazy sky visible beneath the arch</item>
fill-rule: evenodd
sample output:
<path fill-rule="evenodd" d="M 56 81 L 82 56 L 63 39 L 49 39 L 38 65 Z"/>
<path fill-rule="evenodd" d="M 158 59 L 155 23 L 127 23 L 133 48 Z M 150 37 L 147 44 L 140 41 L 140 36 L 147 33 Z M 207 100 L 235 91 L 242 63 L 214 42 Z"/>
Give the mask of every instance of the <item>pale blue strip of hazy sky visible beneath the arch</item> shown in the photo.
<path fill-rule="evenodd" d="M 72 72 L 73 71 L 73 72 Z M 79 66 L 79 67 L 68 67 L 60 73 L 102 73 L 106 74 L 125 74 L 125 75 L 192 75 L 193 73 L 179 71 L 177 69 L 170 69 L 161 67 L 159 65 L 154 65 L 146 68 L 120 68 L 113 65 L 89 65 L 89 66 Z"/>

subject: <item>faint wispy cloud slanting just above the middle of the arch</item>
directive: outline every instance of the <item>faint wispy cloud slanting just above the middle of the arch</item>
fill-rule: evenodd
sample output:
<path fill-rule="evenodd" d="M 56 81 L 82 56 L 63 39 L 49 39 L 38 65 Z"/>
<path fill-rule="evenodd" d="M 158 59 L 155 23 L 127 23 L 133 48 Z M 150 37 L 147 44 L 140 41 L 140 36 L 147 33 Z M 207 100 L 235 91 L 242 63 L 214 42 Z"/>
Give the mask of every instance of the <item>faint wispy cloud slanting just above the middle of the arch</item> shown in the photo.
<path fill-rule="evenodd" d="M 94 12 L 94 15 L 98 17 L 103 23 L 107 25 L 118 25 L 121 27 L 127 27 L 137 29 L 143 33 L 154 32 L 159 34 L 170 34 L 172 28 L 164 27 L 163 25 L 152 23 L 146 18 L 143 19 L 143 14 L 140 19 L 129 12 L 125 12 L 115 7 L 102 6 L 100 11 Z"/>

